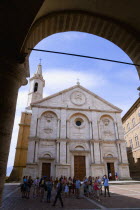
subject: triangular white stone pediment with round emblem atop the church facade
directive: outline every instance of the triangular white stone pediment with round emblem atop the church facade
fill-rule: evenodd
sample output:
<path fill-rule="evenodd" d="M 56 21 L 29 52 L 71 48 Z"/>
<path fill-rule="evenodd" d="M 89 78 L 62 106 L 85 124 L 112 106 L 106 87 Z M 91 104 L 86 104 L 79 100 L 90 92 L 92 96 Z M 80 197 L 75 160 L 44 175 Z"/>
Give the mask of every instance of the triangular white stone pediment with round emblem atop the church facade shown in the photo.
<path fill-rule="evenodd" d="M 81 85 L 75 85 L 56 94 L 45 97 L 31 106 L 96 109 L 113 112 L 122 110 Z"/>

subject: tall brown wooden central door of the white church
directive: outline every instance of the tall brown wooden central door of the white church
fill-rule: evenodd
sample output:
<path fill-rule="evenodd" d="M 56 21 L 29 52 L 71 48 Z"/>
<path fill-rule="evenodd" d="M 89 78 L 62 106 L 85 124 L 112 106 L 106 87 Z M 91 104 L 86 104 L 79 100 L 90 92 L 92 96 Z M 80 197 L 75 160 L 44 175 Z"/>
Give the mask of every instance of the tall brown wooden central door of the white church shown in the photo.
<path fill-rule="evenodd" d="M 81 181 L 86 176 L 85 156 L 74 156 L 74 176 Z"/>

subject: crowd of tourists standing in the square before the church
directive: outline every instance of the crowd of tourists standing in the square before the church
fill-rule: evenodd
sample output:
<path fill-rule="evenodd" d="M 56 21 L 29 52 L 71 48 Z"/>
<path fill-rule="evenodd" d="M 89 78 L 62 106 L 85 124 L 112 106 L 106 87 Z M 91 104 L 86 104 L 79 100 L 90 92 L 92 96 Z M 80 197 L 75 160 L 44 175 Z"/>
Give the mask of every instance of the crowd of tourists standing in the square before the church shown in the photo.
<path fill-rule="evenodd" d="M 97 199 L 100 201 L 101 195 L 104 196 L 106 194 L 110 197 L 109 193 L 109 179 L 106 175 L 102 178 L 100 177 L 85 177 L 83 181 L 80 181 L 77 178 L 67 178 L 65 176 L 61 176 L 59 179 L 56 178 L 48 178 L 46 176 L 39 179 L 37 177 L 35 180 L 31 178 L 31 176 L 24 176 L 23 182 L 21 184 L 21 193 L 22 198 L 30 198 L 30 192 L 32 189 L 33 198 L 39 197 L 40 201 L 44 201 L 45 191 L 47 191 L 46 200 L 48 203 L 51 202 L 51 194 L 52 190 L 56 191 L 55 200 L 53 202 L 53 206 L 55 206 L 57 199 L 60 200 L 61 206 L 63 207 L 63 201 L 61 194 L 65 197 L 69 197 L 71 195 L 75 195 L 76 198 L 80 197 L 80 194 L 84 194 L 87 197 Z"/>

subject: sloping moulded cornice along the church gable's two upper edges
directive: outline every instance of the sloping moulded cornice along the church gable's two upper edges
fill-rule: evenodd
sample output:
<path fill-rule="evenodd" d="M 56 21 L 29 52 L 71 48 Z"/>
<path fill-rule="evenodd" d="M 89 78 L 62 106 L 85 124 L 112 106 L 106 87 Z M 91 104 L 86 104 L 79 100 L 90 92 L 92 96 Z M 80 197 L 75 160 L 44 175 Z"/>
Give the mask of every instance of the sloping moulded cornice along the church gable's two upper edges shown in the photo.
<path fill-rule="evenodd" d="M 64 89 L 64 90 L 62 90 L 62 91 L 60 91 L 60 92 L 58 92 L 58 93 L 52 94 L 52 95 L 47 96 L 47 97 L 45 97 L 45 98 L 43 98 L 43 99 L 41 99 L 41 100 L 38 100 L 38 101 L 32 103 L 31 106 L 37 105 L 38 103 L 41 103 L 41 102 L 43 102 L 43 101 L 46 101 L 46 100 L 48 100 L 48 99 L 51 99 L 51 98 L 53 98 L 53 97 L 56 97 L 56 96 L 58 96 L 58 95 L 61 95 L 62 93 L 68 92 L 68 91 L 73 90 L 73 89 L 76 89 L 76 88 L 82 89 L 83 91 L 85 91 L 85 92 L 87 92 L 88 94 L 94 96 L 95 98 L 97 98 L 98 100 L 102 101 L 103 103 L 105 103 L 105 104 L 111 106 L 113 109 L 117 109 L 117 111 L 122 112 L 122 110 L 121 110 L 120 108 L 118 108 L 117 106 L 114 106 L 114 105 L 111 104 L 110 102 L 106 101 L 105 99 L 101 98 L 100 96 L 96 95 L 95 93 L 91 92 L 90 90 L 86 89 L 85 87 L 81 86 L 80 84 L 74 85 L 74 86 L 72 86 L 72 87 L 70 87 L 70 88 Z"/>

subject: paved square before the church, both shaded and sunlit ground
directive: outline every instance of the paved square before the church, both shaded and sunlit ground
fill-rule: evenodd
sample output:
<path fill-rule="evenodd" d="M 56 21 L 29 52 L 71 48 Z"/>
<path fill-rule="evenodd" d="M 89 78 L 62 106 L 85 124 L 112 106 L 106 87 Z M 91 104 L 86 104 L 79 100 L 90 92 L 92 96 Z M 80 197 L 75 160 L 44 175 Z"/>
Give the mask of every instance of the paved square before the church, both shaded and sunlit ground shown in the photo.
<path fill-rule="evenodd" d="M 76 199 L 75 196 L 65 198 L 63 196 L 65 210 L 140 210 L 140 184 L 129 185 L 111 185 L 111 197 L 101 196 L 101 201 L 96 201 L 94 198 L 81 197 Z M 54 200 L 55 192 L 53 191 L 52 201 Z M 44 196 L 46 197 L 46 195 Z M 20 189 L 17 185 L 6 185 L 3 194 L 3 210 L 55 210 L 62 209 L 58 200 L 55 207 L 52 203 L 48 204 L 45 200 L 40 202 L 39 198 L 25 199 L 21 198 Z"/>

